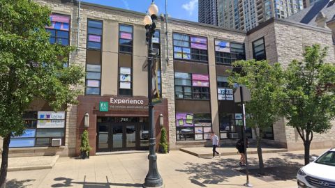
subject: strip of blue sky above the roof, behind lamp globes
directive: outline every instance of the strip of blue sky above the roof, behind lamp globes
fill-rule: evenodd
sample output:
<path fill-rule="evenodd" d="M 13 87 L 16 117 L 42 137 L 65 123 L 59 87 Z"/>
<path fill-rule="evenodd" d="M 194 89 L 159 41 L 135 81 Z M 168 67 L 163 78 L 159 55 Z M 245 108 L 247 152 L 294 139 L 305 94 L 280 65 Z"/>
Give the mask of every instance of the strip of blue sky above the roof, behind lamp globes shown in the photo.
<path fill-rule="evenodd" d="M 113 6 L 145 13 L 151 0 L 82 0 L 105 6 Z M 165 14 L 165 0 L 155 0 L 159 14 Z M 198 22 L 198 0 L 168 0 L 168 14 L 171 17 Z"/>

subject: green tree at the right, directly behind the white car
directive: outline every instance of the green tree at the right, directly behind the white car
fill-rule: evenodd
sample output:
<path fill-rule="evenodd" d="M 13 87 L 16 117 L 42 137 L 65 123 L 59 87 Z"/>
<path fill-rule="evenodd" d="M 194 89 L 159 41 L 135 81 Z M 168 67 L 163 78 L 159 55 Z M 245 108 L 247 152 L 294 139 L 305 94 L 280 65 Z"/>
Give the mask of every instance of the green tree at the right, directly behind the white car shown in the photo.
<path fill-rule="evenodd" d="M 325 133 L 335 118 L 335 65 L 325 63 L 327 48 L 306 47 L 304 61 L 294 60 L 285 70 L 288 100 L 283 105 L 288 125 L 295 127 L 304 142 L 305 164 L 313 133 Z"/>

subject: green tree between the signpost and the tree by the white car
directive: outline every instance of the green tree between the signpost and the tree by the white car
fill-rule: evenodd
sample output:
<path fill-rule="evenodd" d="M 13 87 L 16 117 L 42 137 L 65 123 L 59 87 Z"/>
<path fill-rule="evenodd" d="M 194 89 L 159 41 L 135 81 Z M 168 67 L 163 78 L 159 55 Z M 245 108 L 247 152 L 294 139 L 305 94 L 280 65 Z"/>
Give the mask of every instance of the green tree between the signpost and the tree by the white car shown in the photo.
<path fill-rule="evenodd" d="M 269 65 L 268 61 L 235 61 L 237 72 L 230 72 L 230 84 L 243 84 L 251 91 L 251 101 L 246 102 L 246 126 L 256 136 L 260 173 L 264 173 L 262 158 L 262 130 L 271 127 L 280 117 L 280 99 L 283 97 L 283 70 L 279 63 Z"/>

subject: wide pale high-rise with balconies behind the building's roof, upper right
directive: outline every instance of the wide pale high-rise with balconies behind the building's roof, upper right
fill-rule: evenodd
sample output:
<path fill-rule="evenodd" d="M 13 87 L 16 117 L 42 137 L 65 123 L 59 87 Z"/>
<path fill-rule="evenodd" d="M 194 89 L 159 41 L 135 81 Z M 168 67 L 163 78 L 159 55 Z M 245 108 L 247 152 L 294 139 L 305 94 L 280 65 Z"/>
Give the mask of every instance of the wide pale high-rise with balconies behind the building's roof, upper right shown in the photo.
<path fill-rule="evenodd" d="M 248 31 L 271 17 L 289 17 L 304 5 L 303 0 L 217 0 L 217 7 L 218 26 Z"/>

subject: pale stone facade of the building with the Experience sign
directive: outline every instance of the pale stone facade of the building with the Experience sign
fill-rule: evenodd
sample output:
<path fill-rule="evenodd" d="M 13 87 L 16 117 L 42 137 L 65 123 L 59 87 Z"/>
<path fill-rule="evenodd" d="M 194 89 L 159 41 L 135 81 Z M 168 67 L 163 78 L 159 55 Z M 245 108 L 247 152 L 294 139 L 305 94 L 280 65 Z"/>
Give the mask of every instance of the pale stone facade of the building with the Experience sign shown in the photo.
<path fill-rule="evenodd" d="M 56 0 L 36 0 L 36 2 L 48 6 L 52 9 L 53 13 L 61 13 L 71 16 L 70 26 L 70 45 L 77 45 L 77 13 L 78 8 L 75 3 L 61 3 Z M 103 27 L 103 68 L 117 68 L 117 54 L 118 52 L 118 36 L 119 28 L 118 24 L 129 24 L 134 28 L 134 53 L 133 61 L 134 68 L 140 69 L 143 63 L 147 59 L 144 35 L 145 29 L 142 24 L 144 14 L 135 13 L 133 11 L 121 10 L 118 8 L 110 8 L 106 6 L 95 5 L 91 3 L 82 3 L 80 10 L 80 40 L 77 52 L 73 52 L 70 55 L 70 64 L 75 63 L 82 66 L 86 64 L 86 41 L 87 41 L 87 19 L 100 19 L 104 22 Z M 218 26 L 210 26 L 207 24 L 200 24 L 196 22 L 188 22 L 180 19 L 169 19 L 168 31 L 166 30 L 164 17 L 158 17 L 157 29 L 161 30 L 161 65 L 162 65 L 162 92 L 163 98 L 168 100 L 168 137 L 170 142 L 170 149 L 178 149 L 183 146 L 204 146 L 208 144 L 207 141 L 186 141 L 177 142 L 176 138 L 176 122 L 175 122 L 175 99 L 174 99 L 174 58 L 173 58 L 173 38 L 172 35 L 176 33 L 187 33 L 195 36 L 207 37 L 208 41 L 208 70 L 209 70 L 209 85 L 211 91 L 211 123 L 214 132 L 219 132 L 219 120 L 218 120 L 218 99 L 217 99 L 217 88 L 216 88 L 216 69 L 215 52 L 214 52 L 214 39 L 228 40 L 232 42 L 242 42 L 245 44 L 246 58 L 253 58 L 253 47 L 252 42 L 258 38 L 265 38 L 265 49 L 266 56 L 270 63 L 280 62 L 285 68 L 292 58 L 301 59 L 303 47 L 305 45 L 311 45 L 313 43 L 320 43 L 322 46 L 328 46 L 329 52 L 334 52 L 332 45 L 332 33 L 327 29 L 319 29 L 304 24 L 294 24 L 292 22 L 286 22 L 277 19 L 269 19 L 267 22 L 260 24 L 255 29 L 248 31 L 235 31 L 231 29 L 223 29 Z M 168 43 L 166 41 L 166 35 L 168 36 Z M 168 49 L 168 54 L 167 54 Z M 334 62 L 334 53 L 329 53 L 327 61 Z M 229 67 L 228 67 L 229 68 Z M 137 72 L 136 72 L 137 71 Z M 117 73 L 116 73 L 117 74 Z M 146 96 L 147 91 L 143 84 L 147 82 L 147 76 L 145 70 L 134 70 L 135 84 L 140 85 L 137 87 L 138 96 Z M 112 86 L 117 81 L 117 75 L 112 72 L 105 72 L 102 70 L 102 94 L 105 95 L 117 95 L 117 88 L 112 88 L 108 81 L 113 82 Z M 105 81 L 104 81 L 105 79 Z M 137 81 L 137 82 L 136 82 Z M 140 83 L 141 82 L 141 83 Z M 114 85 L 113 85 L 114 84 Z M 84 86 L 82 86 L 84 91 Z M 78 140 L 82 132 L 80 123 L 77 122 L 77 106 L 70 106 L 66 116 L 66 141 L 65 146 L 60 149 L 61 155 L 75 155 Z M 90 120 L 93 120 L 96 116 L 91 116 Z M 166 125 L 165 125 L 166 126 Z M 334 133 L 335 127 L 328 133 L 323 135 L 315 135 L 315 143 L 325 143 L 325 147 L 328 147 L 330 143 L 334 145 Z M 274 141 L 275 144 L 281 146 L 293 148 L 296 142 L 299 142 L 299 136 L 296 132 L 285 126 L 284 120 L 278 120 L 274 125 Z M 325 142 L 321 142 L 325 141 Z M 327 142 L 327 144 L 326 144 Z M 320 146 L 319 144 L 319 146 Z M 20 149 L 15 149 L 20 150 Z M 23 150 L 23 149 L 22 149 Z M 52 150 L 52 148 L 47 148 Z M 47 155 L 47 150 L 45 155 Z M 54 148 L 54 153 L 59 153 L 59 148 Z"/>

